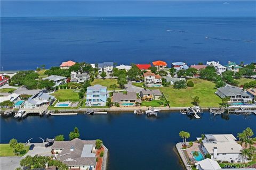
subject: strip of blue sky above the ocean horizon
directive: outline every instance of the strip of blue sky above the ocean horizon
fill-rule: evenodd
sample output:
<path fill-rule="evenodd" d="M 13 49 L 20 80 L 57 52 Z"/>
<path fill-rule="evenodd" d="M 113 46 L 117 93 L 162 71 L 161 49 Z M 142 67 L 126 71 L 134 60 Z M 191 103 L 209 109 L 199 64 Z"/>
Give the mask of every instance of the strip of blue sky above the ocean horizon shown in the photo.
<path fill-rule="evenodd" d="M 1 17 L 256 17 L 256 1 L 1 1 Z"/>

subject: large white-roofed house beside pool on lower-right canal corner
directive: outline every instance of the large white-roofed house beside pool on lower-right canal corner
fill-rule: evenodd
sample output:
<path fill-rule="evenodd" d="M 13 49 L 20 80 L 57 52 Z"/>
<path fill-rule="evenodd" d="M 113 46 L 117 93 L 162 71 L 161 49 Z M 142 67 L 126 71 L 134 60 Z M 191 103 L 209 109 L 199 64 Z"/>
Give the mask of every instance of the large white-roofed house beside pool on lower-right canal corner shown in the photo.
<path fill-rule="evenodd" d="M 201 149 L 204 154 L 210 154 L 212 160 L 230 163 L 243 161 L 243 147 L 236 142 L 233 134 L 205 134 Z"/>

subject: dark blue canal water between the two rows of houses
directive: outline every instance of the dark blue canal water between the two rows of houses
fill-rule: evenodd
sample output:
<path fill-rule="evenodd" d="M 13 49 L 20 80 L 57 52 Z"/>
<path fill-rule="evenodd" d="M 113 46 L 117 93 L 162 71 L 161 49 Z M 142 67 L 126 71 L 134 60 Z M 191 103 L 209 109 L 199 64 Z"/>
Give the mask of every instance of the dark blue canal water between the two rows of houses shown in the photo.
<path fill-rule="evenodd" d="M 209 112 L 196 120 L 175 112 L 162 112 L 155 117 L 133 113 L 73 116 L 28 116 L 25 120 L 1 117 L 1 143 L 16 138 L 19 142 L 40 142 L 41 138 L 68 134 L 77 126 L 80 138 L 102 139 L 109 149 L 108 170 L 130 169 L 183 169 L 175 152 L 175 143 L 182 141 L 179 132 L 190 133 L 194 141 L 201 134 L 232 133 L 246 127 L 256 133 L 256 115 L 225 114 L 213 116 Z"/>

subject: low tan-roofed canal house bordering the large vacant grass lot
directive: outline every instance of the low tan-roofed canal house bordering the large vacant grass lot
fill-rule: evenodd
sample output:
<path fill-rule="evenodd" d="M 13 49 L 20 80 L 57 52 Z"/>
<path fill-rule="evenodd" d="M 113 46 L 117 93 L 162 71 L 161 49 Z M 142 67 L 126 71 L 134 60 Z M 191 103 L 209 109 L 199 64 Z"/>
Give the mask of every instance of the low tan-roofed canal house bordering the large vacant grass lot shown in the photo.
<path fill-rule="evenodd" d="M 162 96 L 162 93 L 159 89 L 142 89 L 140 91 L 140 98 L 142 100 L 159 100 Z"/>

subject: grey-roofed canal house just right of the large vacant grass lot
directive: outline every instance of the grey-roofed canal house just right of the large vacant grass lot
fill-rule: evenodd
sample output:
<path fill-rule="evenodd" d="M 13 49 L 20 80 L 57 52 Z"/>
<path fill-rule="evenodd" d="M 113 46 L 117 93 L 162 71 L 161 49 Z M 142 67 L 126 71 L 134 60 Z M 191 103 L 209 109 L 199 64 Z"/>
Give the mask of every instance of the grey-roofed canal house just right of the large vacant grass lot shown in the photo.
<path fill-rule="evenodd" d="M 249 101 L 252 101 L 252 97 L 243 89 L 233 86 L 218 88 L 217 95 L 221 98 L 230 97 L 230 103 L 246 104 L 249 103 Z"/>

